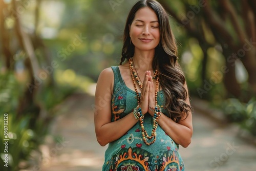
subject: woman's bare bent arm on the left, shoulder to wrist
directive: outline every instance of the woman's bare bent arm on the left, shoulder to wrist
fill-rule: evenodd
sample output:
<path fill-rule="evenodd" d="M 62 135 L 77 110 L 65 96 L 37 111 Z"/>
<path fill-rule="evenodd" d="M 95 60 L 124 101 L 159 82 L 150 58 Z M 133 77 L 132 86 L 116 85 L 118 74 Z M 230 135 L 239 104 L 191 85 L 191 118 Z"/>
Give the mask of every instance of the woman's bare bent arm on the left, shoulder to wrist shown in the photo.
<path fill-rule="evenodd" d="M 98 78 L 95 93 L 94 124 L 97 141 L 101 146 L 122 137 L 136 124 L 133 112 L 111 122 L 111 99 L 114 74 L 111 68 L 103 70 Z"/>

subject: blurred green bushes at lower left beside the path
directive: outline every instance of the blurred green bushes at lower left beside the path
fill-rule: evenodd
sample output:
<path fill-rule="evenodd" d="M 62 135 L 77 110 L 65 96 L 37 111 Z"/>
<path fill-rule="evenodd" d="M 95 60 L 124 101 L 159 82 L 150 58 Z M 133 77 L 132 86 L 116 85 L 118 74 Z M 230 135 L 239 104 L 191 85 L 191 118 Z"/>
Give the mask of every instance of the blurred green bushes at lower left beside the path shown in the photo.
<path fill-rule="evenodd" d="M 41 94 L 38 94 L 37 99 L 42 111 L 31 106 L 26 109 L 22 115 L 17 114 L 19 108 L 19 100 L 23 98 L 26 87 L 26 81 L 17 77 L 14 72 L 0 74 L 0 143 L 3 144 L 4 139 L 8 139 L 8 167 L 4 164 L 0 165 L 0 170 L 18 170 L 19 162 L 26 161 L 30 158 L 30 153 L 36 150 L 38 146 L 44 143 L 45 136 L 48 134 L 51 119 L 56 112 L 54 107 L 72 94 L 76 88 L 71 86 L 46 87 L 42 89 Z M 45 116 L 39 117 L 41 113 Z M 4 115 L 7 114 L 7 115 Z M 7 117 L 4 117 L 7 116 Z M 6 124 L 4 124 L 4 119 Z M 8 127 L 8 138 L 4 135 L 4 126 Z M 4 151 L 0 153 L 3 160 Z M 3 161 L 2 161 L 3 162 Z M 26 163 L 26 162 L 25 162 Z M 23 167 L 28 167 L 28 163 Z"/>

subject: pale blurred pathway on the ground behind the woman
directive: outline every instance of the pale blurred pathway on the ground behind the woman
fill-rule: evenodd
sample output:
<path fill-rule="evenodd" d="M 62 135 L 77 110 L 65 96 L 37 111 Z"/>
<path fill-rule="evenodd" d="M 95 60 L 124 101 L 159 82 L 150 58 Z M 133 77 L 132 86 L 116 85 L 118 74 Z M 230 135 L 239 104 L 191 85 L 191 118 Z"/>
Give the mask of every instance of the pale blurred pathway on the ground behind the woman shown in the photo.
<path fill-rule="evenodd" d="M 62 140 L 63 147 L 58 148 L 57 153 L 52 149 L 57 148 L 56 145 L 49 148 L 48 154 L 52 157 L 42 163 L 42 170 L 101 170 L 106 146 L 101 147 L 96 141 L 93 103 L 93 96 L 74 94 L 61 105 L 51 133 Z M 186 170 L 256 170 L 256 147 L 238 138 L 235 127 L 218 123 L 197 109 L 193 124 L 191 144 L 180 147 Z"/>

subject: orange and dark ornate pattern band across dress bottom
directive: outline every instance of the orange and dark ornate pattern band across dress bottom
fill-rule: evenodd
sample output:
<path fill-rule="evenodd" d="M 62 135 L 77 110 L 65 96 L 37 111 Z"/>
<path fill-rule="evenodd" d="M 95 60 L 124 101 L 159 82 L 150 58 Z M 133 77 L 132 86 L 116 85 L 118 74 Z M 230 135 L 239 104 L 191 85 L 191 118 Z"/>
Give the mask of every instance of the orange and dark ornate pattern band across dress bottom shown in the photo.
<path fill-rule="evenodd" d="M 136 144 L 142 146 L 142 144 Z M 155 159 L 154 165 L 153 161 Z M 148 171 L 170 171 L 184 170 L 183 162 L 179 163 L 179 158 L 176 152 L 163 152 L 162 157 L 154 156 L 150 152 L 140 147 L 129 147 L 122 149 L 116 156 L 112 157 L 107 170 L 148 170 Z"/>

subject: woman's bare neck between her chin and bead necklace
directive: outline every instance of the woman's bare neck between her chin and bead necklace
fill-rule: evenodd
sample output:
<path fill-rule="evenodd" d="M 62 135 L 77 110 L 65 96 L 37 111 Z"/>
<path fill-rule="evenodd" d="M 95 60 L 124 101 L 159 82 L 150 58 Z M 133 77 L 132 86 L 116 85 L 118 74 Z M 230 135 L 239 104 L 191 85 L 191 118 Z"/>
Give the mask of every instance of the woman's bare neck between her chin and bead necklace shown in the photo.
<path fill-rule="evenodd" d="M 133 56 L 134 65 L 139 70 L 151 71 L 152 69 L 152 61 L 155 55 L 155 50 L 153 51 L 136 51 Z"/>

